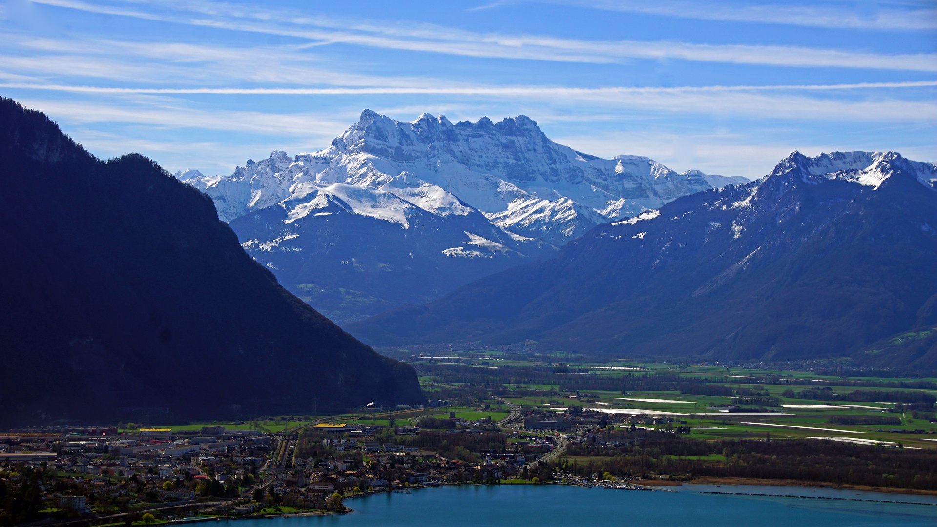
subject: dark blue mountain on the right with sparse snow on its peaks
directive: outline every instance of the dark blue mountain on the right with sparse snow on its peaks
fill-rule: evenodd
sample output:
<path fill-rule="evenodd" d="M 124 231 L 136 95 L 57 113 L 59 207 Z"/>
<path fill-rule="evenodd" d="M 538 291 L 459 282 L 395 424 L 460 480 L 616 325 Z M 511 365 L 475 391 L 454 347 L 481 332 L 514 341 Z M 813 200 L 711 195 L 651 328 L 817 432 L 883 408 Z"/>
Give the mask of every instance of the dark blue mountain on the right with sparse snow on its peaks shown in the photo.
<path fill-rule="evenodd" d="M 348 329 L 371 344 L 847 355 L 935 322 L 920 315 L 937 293 L 934 182 L 933 165 L 899 154 L 795 153 L 758 182 L 595 227 L 556 258 Z"/>

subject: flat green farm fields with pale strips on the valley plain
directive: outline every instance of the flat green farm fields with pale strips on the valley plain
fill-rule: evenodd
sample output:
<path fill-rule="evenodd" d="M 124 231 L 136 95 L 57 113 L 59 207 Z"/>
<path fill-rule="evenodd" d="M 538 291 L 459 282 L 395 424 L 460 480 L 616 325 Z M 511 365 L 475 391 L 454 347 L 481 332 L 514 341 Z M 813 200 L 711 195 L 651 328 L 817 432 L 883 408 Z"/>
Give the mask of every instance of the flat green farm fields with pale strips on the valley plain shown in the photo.
<path fill-rule="evenodd" d="M 561 414 L 561 411 L 552 409 L 576 406 L 585 411 L 608 413 L 613 422 L 619 421 L 626 412 L 643 413 L 643 420 L 656 417 L 672 421 L 639 425 L 642 428 L 690 427 L 693 429 L 692 437 L 707 440 L 822 437 L 831 441 L 866 444 L 883 442 L 886 446 L 937 447 L 937 441 L 930 441 L 937 439 L 937 424 L 930 422 L 937 408 L 930 405 L 898 408 L 897 403 L 885 402 L 895 401 L 898 397 L 895 392 L 937 394 L 935 379 L 843 377 L 777 367 L 727 368 L 589 359 L 582 355 L 525 350 L 457 350 L 426 354 L 426 357 L 433 355 L 458 359 L 446 360 L 449 364 L 445 365 L 432 360 L 416 360 L 422 381 L 464 387 L 473 397 L 479 394 L 478 387 L 485 387 L 511 403 L 521 405 L 525 412 L 539 410 Z M 468 361 L 474 365 L 487 362 L 496 367 L 472 368 Z M 454 382 L 455 379 L 458 383 Z M 623 393 L 617 387 L 627 387 L 628 391 Z M 427 385 L 426 388 L 438 388 L 438 385 Z M 854 399 L 847 397 L 848 394 L 863 390 L 881 393 L 884 400 L 850 402 Z M 575 394 L 579 397 L 570 397 Z M 856 397 L 855 401 L 866 401 L 861 394 Z M 485 401 L 490 399 L 486 397 Z M 727 410 L 733 404 L 755 410 L 764 407 L 769 411 L 751 412 L 753 415 L 730 413 Z M 474 408 L 452 410 L 459 417 L 499 417 L 495 415 L 494 407 L 492 411 L 485 412 Z M 898 410 L 903 410 L 903 413 Z M 918 413 L 914 414 L 912 410 Z M 433 415 L 444 417 L 445 414 L 440 411 Z"/>

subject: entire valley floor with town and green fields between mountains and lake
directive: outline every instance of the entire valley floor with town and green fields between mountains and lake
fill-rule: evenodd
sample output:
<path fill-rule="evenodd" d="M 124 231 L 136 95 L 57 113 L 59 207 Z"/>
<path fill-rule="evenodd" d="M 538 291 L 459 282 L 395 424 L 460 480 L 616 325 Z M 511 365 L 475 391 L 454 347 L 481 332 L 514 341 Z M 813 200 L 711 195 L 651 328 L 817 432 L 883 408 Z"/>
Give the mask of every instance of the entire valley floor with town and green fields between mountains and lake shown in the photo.
<path fill-rule="evenodd" d="M 937 490 L 930 380 L 495 351 L 408 359 L 424 405 L 209 422 L 148 409 L 136 424 L 0 432 L 0 525 L 337 514 L 375 492 L 449 485 Z"/>

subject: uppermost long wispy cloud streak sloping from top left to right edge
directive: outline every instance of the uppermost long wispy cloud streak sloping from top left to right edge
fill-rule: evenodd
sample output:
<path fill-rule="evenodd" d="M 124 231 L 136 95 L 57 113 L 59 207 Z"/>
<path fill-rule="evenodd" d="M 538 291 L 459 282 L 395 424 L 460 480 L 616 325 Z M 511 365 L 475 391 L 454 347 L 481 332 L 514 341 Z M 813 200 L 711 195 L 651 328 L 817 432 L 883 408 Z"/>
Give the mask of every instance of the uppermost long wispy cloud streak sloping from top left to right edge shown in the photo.
<path fill-rule="evenodd" d="M 815 49 L 798 46 L 697 44 L 677 41 L 583 40 L 536 35 L 483 34 L 433 24 L 387 24 L 304 17 L 260 8 L 191 2 L 176 13 L 93 4 L 82 0 L 32 0 L 36 4 L 119 15 L 159 22 L 297 37 L 316 45 L 347 44 L 397 51 L 423 51 L 485 58 L 611 64 L 633 59 L 677 59 L 696 62 L 766 66 L 848 67 L 885 70 L 937 71 L 937 54 L 885 54 Z M 202 18 L 192 17 L 196 13 Z M 207 17 L 207 18 L 206 18 Z"/>

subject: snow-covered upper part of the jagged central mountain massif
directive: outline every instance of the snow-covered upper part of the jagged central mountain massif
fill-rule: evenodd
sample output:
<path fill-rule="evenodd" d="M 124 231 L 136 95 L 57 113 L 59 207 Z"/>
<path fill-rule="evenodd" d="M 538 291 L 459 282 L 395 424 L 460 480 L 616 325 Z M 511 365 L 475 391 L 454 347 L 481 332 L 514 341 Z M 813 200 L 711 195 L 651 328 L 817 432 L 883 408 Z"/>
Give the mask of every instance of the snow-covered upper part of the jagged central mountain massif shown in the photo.
<path fill-rule="evenodd" d="M 403 123 L 370 110 L 320 152 L 276 151 L 230 176 L 191 170 L 176 177 L 211 196 L 224 221 L 277 204 L 295 221 L 316 210 L 316 199 L 335 196 L 355 213 L 405 228 L 408 206 L 443 217 L 474 209 L 515 235 L 554 245 L 680 196 L 748 183 L 677 173 L 647 157 L 583 154 L 548 139 L 524 115 L 452 124 L 424 113 Z"/>

